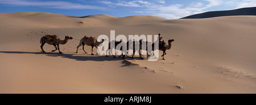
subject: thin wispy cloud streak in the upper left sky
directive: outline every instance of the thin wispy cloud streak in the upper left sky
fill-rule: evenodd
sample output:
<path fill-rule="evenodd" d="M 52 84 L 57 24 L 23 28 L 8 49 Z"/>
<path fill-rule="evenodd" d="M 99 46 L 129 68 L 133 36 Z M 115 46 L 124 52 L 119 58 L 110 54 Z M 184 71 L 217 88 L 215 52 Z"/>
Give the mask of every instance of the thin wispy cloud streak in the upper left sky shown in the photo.
<path fill-rule="evenodd" d="M 15 6 L 39 6 L 46 8 L 59 8 L 65 10 L 80 10 L 80 9 L 103 9 L 98 6 L 81 5 L 79 3 L 70 3 L 62 1 L 24 1 L 24 0 L 0 0 L 0 4 L 15 5 Z"/>

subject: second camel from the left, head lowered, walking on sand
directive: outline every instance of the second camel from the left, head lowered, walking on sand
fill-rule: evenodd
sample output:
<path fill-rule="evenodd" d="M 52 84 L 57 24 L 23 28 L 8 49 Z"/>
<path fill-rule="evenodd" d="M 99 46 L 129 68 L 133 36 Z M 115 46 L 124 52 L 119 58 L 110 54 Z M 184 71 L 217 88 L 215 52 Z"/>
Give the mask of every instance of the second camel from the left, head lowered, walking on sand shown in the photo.
<path fill-rule="evenodd" d="M 104 41 L 102 42 L 98 42 L 97 39 L 95 37 L 87 37 L 87 36 L 84 36 L 81 40 L 80 40 L 80 43 L 79 43 L 79 46 L 77 46 L 77 50 L 76 50 L 76 53 L 78 53 L 78 49 L 80 46 L 82 46 L 82 50 L 84 50 L 84 45 L 87 45 L 87 46 L 92 46 L 92 54 L 91 55 L 94 55 L 93 54 L 93 47 L 96 47 L 98 49 L 98 46 L 101 45 L 101 43 L 103 43 Z M 85 54 L 88 54 L 85 50 L 84 50 Z"/>

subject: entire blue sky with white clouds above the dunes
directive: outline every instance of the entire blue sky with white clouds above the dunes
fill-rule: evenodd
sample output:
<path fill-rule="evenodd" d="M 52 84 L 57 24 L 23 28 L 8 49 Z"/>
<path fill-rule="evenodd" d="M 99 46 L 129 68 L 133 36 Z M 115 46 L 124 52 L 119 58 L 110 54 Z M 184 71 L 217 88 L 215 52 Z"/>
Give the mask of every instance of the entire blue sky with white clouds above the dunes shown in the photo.
<path fill-rule="evenodd" d="M 255 0 L 0 0 L 0 12 L 51 12 L 71 16 L 153 15 L 179 19 L 207 11 L 256 7 Z"/>

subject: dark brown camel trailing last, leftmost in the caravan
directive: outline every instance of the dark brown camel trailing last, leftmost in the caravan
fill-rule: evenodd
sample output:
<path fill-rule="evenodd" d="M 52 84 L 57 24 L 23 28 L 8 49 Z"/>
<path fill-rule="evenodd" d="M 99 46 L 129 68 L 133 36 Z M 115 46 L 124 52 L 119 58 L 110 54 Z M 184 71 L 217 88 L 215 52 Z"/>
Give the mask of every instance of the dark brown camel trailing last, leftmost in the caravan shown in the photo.
<path fill-rule="evenodd" d="M 52 50 L 52 52 L 55 52 L 57 49 L 59 50 L 59 53 L 62 54 L 62 52 L 60 52 L 60 47 L 59 45 L 65 45 L 68 40 L 72 40 L 73 38 L 72 37 L 69 37 L 69 36 L 65 36 L 65 40 L 60 40 L 60 38 L 56 35 L 46 35 L 46 36 L 43 36 L 40 40 L 40 43 L 42 44 L 41 45 L 41 50 L 44 52 L 44 49 L 43 49 L 43 46 L 44 44 L 48 43 L 49 45 L 53 45 L 55 47 L 55 50 Z M 57 47 L 56 47 L 57 46 Z"/>

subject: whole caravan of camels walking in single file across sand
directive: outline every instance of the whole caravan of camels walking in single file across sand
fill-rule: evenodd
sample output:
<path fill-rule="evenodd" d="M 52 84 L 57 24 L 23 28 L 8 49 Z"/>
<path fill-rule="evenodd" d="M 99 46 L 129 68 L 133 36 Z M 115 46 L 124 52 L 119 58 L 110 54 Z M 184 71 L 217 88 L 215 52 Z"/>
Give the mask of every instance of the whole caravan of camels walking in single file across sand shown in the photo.
<path fill-rule="evenodd" d="M 56 50 L 59 50 L 59 53 L 60 54 L 63 54 L 61 51 L 60 51 L 60 47 L 59 45 L 65 45 L 68 40 L 72 40 L 73 38 L 72 37 L 69 37 L 69 36 L 65 36 L 65 39 L 64 40 L 60 40 L 60 38 L 57 36 L 57 35 L 46 35 L 46 36 L 43 36 L 40 40 L 40 43 L 42 44 L 40 47 L 42 49 L 42 52 L 44 53 L 45 51 L 43 50 L 43 46 L 45 43 L 48 43 L 49 45 L 53 45 L 55 47 L 55 50 L 52 50 L 52 52 L 55 52 Z M 172 46 L 172 42 L 174 40 L 168 40 L 168 45 L 162 41 L 162 37 L 160 37 L 159 35 L 159 50 L 160 51 L 163 51 L 163 60 L 164 59 L 164 55 L 166 55 L 166 51 L 167 50 L 170 50 L 171 49 L 171 46 Z M 79 43 L 79 46 L 77 46 L 77 50 L 76 50 L 76 53 L 78 53 L 78 50 L 79 50 L 79 47 L 82 46 L 82 50 L 84 50 L 84 46 L 87 45 L 87 46 L 91 46 L 92 47 L 92 54 L 91 55 L 94 55 L 93 54 L 93 47 L 96 47 L 98 49 L 98 46 L 100 46 L 102 43 L 104 42 L 104 40 L 102 40 L 101 42 L 98 42 L 96 37 L 87 37 L 87 36 L 84 36 L 81 40 L 80 40 L 80 43 Z M 117 47 L 120 43 L 122 43 L 122 41 L 115 41 L 115 47 Z M 109 42 L 109 49 L 110 50 L 110 42 Z M 126 43 L 127 45 L 127 50 L 129 50 L 129 42 Z M 154 45 L 155 43 L 152 43 L 152 51 L 154 51 Z M 57 47 L 56 47 L 57 46 Z M 135 55 L 135 42 L 133 42 L 133 56 Z M 146 45 L 148 46 L 148 45 Z M 122 50 L 122 47 L 121 47 L 121 50 Z M 141 59 L 142 56 L 141 56 L 141 51 L 142 50 L 142 40 L 139 41 L 139 56 Z M 148 51 L 148 49 L 147 49 Z M 85 54 L 88 54 L 85 50 L 84 50 Z M 148 52 L 149 53 L 149 52 Z M 147 53 L 147 57 L 150 56 L 148 55 Z M 106 56 L 108 56 L 108 54 L 106 54 Z M 122 54 L 122 58 L 125 59 L 124 57 L 127 56 L 127 55 L 123 55 Z M 131 56 L 131 58 L 133 58 L 133 56 Z M 114 55 L 113 55 L 113 58 Z"/>

